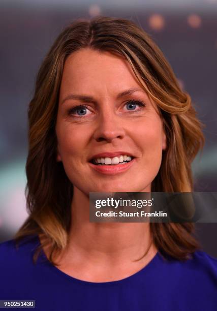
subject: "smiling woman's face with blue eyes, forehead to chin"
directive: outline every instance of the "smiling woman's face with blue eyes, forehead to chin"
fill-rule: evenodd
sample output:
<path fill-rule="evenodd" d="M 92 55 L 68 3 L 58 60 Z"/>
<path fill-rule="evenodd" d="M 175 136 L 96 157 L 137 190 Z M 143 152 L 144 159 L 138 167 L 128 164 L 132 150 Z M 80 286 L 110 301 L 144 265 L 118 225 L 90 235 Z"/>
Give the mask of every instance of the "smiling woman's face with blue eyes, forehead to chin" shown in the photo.
<path fill-rule="evenodd" d="M 56 135 L 57 161 L 86 195 L 150 192 L 166 148 L 157 108 L 128 63 L 92 49 L 66 60 Z"/>

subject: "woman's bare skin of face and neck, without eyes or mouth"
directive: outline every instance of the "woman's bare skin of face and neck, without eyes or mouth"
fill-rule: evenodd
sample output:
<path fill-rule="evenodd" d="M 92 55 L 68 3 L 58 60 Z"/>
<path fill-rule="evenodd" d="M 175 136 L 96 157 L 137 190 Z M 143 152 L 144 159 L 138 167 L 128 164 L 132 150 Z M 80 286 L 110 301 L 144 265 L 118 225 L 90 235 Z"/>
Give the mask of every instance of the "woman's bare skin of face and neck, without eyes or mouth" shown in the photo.
<path fill-rule="evenodd" d="M 140 89 L 117 99 L 128 89 Z M 69 95 L 85 95 L 81 103 Z M 67 99 L 68 98 L 68 99 Z M 132 113 L 126 102 L 143 101 Z M 69 110 L 87 106 L 86 114 Z M 61 80 L 56 121 L 57 161 L 74 185 L 72 226 L 58 268 L 89 282 L 116 281 L 134 274 L 156 255 L 148 223 L 89 223 L 89 192 L 150 192 L 166 148 L 156 105 L 142 89 L 129 64 L 109 52 L 82 49 L 71 54 Z M 104 175 L 89 159 L 100 152 L 125 150 L 135 163 L 125 172 Z M 146 256 L 139 260 L 144 253 Z M 96 268 L 97 267 L 97 268 Z"/>

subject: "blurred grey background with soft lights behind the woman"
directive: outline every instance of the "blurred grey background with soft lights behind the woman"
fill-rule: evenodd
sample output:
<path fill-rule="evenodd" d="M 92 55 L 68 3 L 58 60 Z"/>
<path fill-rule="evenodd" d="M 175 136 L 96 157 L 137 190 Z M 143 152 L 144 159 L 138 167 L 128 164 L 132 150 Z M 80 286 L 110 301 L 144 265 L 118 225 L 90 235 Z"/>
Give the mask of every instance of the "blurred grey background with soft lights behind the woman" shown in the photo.
<path fill-rule="evenodd" d="M 0 242 L 27 216 L 27 107 L 39 66 L 65 26 L 97 15 L 133 20 L 159 45 L 206 125 L 203 153 L 193 163 L 195 191 L 216 192 L 217 0 L 1 0 Z M 196 230 L 203 250 L 217 258 L 217 224 Z"/>

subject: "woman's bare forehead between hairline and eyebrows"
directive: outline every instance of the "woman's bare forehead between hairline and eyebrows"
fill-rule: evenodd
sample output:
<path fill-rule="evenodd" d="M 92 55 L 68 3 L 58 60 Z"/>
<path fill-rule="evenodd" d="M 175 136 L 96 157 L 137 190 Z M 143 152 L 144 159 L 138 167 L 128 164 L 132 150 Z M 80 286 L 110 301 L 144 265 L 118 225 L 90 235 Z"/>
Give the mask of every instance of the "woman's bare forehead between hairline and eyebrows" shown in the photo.
<path fill-rule="evenodd" d="M 110 91 L 141 87 L 130 65 L 110 52 L 81 49 L 66 60 L 60 92 Z"/>

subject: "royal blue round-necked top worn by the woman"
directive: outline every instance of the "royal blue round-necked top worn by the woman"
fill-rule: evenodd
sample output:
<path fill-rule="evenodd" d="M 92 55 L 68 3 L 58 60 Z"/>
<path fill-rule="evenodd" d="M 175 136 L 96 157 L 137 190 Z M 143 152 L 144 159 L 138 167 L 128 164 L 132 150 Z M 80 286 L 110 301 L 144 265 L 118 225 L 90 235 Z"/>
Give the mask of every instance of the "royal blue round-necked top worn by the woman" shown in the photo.
<path fill-rule="evenodd" d="M 160 253 L 139 272 L 120 281 L 76 279 L 43 253 L 34 265 L 38 236 L 0 244 L 0 300 L 35 300 L 42 311 L 216 311 L 217 260 L 204 252 L 181 262 Z"/>

